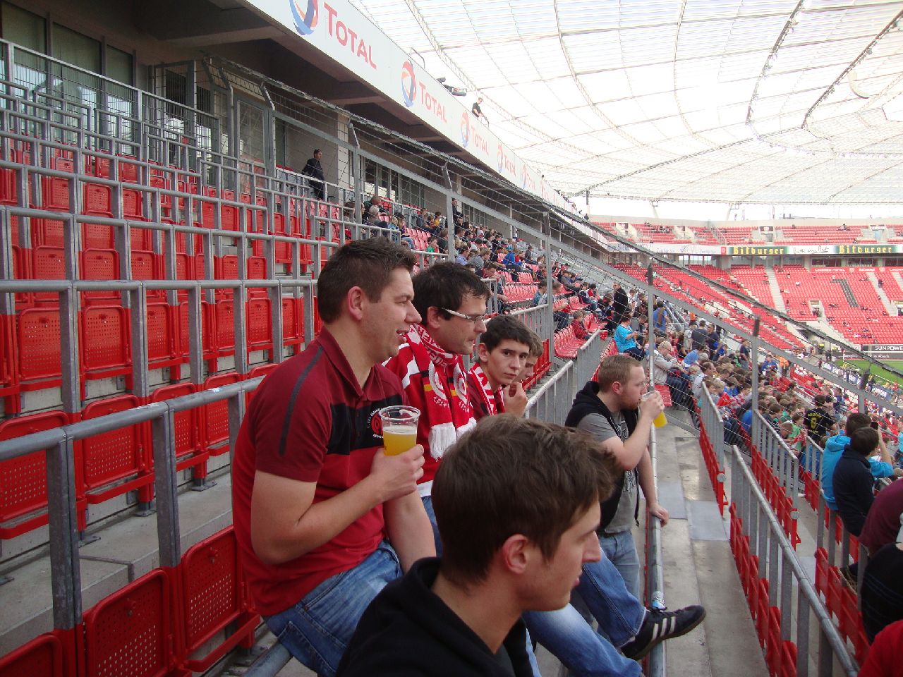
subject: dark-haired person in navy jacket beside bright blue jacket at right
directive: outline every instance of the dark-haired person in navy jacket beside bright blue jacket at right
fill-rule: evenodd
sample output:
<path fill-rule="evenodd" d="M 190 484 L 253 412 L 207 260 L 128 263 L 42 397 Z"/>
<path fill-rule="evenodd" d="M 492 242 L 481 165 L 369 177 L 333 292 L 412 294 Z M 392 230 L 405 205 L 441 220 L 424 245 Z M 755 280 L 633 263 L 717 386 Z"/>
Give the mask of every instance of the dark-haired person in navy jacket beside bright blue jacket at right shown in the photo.
<path fill-rule="evenodd" d="M 852 433 L 850 443 L 843 449 L 833 473 L 834 501 L 841 515 L 843 526 L 854 536 L 862 533 L 865 515 L 874 495 L 874 482 L 869 468 L 869 457 L 878 450 L 880 435 L 874 428 L 863 427 Z"/>

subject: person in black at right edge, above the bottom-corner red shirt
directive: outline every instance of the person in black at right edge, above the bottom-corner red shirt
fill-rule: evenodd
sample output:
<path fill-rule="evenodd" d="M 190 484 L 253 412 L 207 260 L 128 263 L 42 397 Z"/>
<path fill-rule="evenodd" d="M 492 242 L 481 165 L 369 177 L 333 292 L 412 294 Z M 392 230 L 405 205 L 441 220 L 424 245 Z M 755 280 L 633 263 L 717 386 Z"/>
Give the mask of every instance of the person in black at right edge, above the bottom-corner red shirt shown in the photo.
<path fill-rule="evenodd" d="M 869 641 L 874 640 L 884 627 L 903 619 L 903 576 L 900 571 L 903 571 L 903 529 L 897 535 L 897 543 L 880 548 L 862 573 L 860 607 L 862 626 Z"/>

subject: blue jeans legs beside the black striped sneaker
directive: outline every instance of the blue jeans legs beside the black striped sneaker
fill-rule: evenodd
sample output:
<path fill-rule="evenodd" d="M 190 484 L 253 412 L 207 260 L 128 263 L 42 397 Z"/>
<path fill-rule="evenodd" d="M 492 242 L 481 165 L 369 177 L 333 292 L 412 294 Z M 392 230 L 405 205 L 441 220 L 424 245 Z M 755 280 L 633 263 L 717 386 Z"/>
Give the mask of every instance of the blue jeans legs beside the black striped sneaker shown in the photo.
<path fill-rule="evenodd" d="M 646 609 L 630 595 L 607 557 L 583 565 L 577 592 L 610 642 L 570 604 L 557 611 L 524 614 L 530 634 L 575 675 L 639 675 L 639 663 L 625 658 L 615 646 L 625 645 L 637 635 Z"/>

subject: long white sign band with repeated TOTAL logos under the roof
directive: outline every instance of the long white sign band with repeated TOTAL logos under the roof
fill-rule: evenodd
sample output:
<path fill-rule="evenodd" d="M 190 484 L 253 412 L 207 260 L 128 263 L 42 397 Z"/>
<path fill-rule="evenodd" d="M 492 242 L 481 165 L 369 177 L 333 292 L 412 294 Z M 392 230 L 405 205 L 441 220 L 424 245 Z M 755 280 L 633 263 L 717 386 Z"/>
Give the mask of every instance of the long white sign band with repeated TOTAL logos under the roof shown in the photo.
<path fill-rule="evenodd" d="M 502 144 L 452 94 L 411 60 L 348 0 L 245 0 L 304 41 L 338 61 L 387 97 L 498 170 L 508 181 L 571 210 L 536 172 Z"/>

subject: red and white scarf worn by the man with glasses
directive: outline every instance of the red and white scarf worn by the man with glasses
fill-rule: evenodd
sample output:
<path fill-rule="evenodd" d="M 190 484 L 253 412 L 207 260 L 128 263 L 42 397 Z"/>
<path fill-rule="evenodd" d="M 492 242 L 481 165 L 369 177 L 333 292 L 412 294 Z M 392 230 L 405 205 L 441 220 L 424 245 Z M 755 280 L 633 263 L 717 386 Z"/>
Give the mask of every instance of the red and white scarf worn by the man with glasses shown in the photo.
<path fill-rule="evenodd" d="M 401 377 L 408 402 L 420 410 L 417 441 L 426 441 L 424 481 L 432 480 L 445 450 L 477 424 L 461 356 L 442 350 L 423 326 L 415 324 L 389 363 Z"/>

